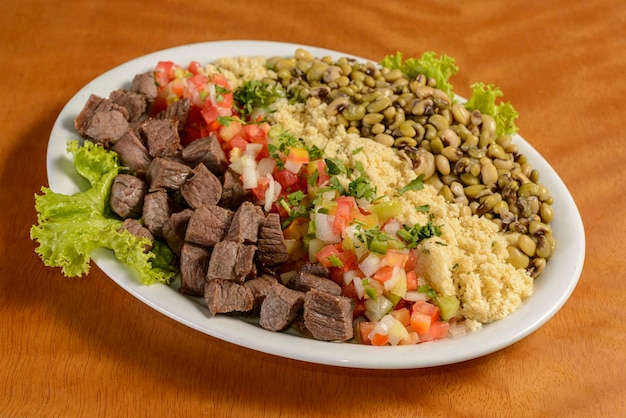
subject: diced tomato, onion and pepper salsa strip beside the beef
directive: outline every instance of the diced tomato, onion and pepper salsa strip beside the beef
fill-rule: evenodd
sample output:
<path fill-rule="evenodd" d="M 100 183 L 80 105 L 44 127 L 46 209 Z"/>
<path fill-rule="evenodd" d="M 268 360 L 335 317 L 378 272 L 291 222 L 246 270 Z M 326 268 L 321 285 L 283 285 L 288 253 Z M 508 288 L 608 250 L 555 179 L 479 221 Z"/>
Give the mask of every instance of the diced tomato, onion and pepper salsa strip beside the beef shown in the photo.
<path fill-rule="evenodd" d="M 321 150 L 270 126 L 263 112 L 237 100 L 224 75 L 197 62 L 186 68 L 159 62 L 155 79 L 151 113 L 189 99 L 182 144 L 215 135 L 254 202 L 280 214 L 292 260 L 281 269 L 283 282 L 299 262 L 326 267 L 342 295 L 354 300 L 355 340 L 363 344 L 416 344 L 464 332 L 456 325 L 459 300 L 438 296 L 416 273 L 417 245 L 439 236 L 438 226 L 401 224 L 400 205 L 379 199 L 362 167 L 325 159 Z M 345 187 L 339 175 L 353 180 Z M 421 178 L 411 187 L 421 188 Z"/>

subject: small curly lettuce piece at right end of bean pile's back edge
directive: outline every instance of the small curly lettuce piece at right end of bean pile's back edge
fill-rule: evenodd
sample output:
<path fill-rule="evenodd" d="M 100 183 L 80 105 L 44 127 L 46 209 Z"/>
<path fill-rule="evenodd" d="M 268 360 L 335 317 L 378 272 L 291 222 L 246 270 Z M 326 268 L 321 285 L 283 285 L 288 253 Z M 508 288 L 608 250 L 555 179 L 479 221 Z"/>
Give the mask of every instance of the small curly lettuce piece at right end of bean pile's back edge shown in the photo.
<path fill-rule="evenodd" d="M 515 119 L 519 113 L 509 102 L 496 104 L 498 97 L 503 96 L 502 90 L 493 84 L 484 83 L 474 83 L 470 87 L 473 90 L 472 97 L 465 103 L 468 110 L 478 110 L 491 115 L 496 121 L 498 135 L 517 133 L 519 128 L 515 125 Z"/>

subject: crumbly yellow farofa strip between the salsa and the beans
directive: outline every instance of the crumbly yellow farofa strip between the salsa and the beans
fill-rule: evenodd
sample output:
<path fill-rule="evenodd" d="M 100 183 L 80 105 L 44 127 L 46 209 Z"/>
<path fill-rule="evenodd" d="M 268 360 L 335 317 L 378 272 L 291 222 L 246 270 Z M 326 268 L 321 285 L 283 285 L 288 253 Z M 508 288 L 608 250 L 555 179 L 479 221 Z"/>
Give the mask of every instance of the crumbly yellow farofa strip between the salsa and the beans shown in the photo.
<path fill-rule="evenodd" d="M 248 61 L 250 67 L 246 67 Z M 271 76 L 260 65 L 262 62 L 264 59 L 258 57 L 223 59 L 219 65 L 239 79 L 233 84 L 241 85 L 246 80 Z M 229 80 L 233 74 L 227 75 Z M 506 261 L 508 240 L 516 237 L 501 233 L 488 219 L 459 217 L 459 205 L 446 202 L 429 184 L 424 184 L 422 190 L 396 196 L 397 188 L 416 177 L 406 159 L 392 147 L 348 134 L 334 117 L 325 114 L 325 109 L 323 103 L 309 107 L 283 101 L 269 118 L 273 125 L 320 148 L 325 158 L 360 161 L 377 193 L 387 198 L 395 196 L 402 204 L 400 222 L 424 225 L 432 215 L 432 223 L 441 227 L 441 236 L 420 245 L 418 274 L 439 294 L 456 296 L 461 301 L 460 314 L 470 328 L 479 328 L 517 310 L 532 294 L 533 279 L 524 269 L 515 269 Z M 429 205 L 427 214 L 415 209 L 422 205 Z"/>

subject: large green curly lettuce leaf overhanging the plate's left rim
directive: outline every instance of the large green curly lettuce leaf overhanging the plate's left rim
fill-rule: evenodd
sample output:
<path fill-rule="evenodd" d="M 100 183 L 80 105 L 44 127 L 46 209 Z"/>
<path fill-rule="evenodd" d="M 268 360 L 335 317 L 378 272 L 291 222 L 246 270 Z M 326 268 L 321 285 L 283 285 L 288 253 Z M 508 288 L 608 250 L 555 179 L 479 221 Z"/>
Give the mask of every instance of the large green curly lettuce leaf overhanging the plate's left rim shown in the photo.
<path fill-rule="evenodd" d="M 171 250 L 155 241 L 145 252 L 148 239 L 118 232 L 122 220 L 109 209 L 113 179 L 123 170 L 117 154 L 89 141 L 83 146 L 70 141 L 67 150 L 91 187 L 71 196 L 43 187 L 42 194 L 35 195 L 38 225 L 31 227 L 30 237 L 38 242 L 35 252 L 44 264 L 60 267 L 67 277 L 82 276 L 89 273 L 91 252 L 106 248 L 132 267 L 143 284 L 169 283 L 177 273 Z"/>

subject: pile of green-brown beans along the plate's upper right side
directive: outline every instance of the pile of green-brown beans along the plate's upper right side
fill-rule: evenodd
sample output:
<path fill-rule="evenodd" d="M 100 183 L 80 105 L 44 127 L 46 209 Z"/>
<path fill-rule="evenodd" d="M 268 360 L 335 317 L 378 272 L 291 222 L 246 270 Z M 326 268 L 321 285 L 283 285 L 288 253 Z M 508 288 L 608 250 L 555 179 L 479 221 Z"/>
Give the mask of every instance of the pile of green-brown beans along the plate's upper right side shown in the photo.
<path fill-rule="evenodd" d="M 268 67 L 292 100 L 326 103 L 348 132 L 399 150 L 461 216 L 484 216 L 502 231 L 519 233 L 508 261 L 538 277 L 554 254 L 550 222 L 553 199 L 539 172 L 513 143 L 498 135 L 494 118 L 469 111 L 418 74 L 352 58 L 314 58 L 304 49 L 293 57 L 272 57 Z"/>

